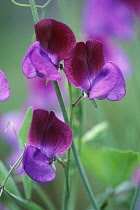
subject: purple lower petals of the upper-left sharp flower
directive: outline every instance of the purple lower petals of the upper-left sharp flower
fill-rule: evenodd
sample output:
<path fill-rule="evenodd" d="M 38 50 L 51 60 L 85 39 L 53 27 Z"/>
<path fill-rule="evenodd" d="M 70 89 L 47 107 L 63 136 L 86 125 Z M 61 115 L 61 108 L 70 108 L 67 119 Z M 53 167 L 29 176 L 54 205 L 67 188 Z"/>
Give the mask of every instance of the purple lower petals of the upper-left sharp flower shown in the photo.
<path fill-rule="evenodd" d="M 32 74 L 34 74 L 41 78 L 46 77 L 49 80 L 61 79 L 57 68 L 47 56 L 39 42 L 35 42 L 29 48 L 23 61 L 22 69 L 28 78 L 32 78 Z"/>

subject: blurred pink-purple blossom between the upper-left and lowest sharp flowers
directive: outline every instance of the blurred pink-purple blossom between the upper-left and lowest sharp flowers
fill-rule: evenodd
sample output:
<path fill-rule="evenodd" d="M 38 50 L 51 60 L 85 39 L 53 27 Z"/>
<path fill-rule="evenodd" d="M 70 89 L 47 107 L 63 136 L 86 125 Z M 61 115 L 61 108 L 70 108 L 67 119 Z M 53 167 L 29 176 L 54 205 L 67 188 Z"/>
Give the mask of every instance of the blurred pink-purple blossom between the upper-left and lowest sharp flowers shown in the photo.
<path fill-rule="evenodd" d="M 46 83 L 46 78 L 40 79 L 39 77 L 33 78 L 28 82 L 28 98 L 26 106 L 33 106 L 34 109 L 52 109 L 58 111 L 58 100 L 52 84 L 52 81 Z M 66 99 L 66 91 L 64 88 L 64 82 L 59 81 L 59 87 L 63 93 L 63 98 Z"/>

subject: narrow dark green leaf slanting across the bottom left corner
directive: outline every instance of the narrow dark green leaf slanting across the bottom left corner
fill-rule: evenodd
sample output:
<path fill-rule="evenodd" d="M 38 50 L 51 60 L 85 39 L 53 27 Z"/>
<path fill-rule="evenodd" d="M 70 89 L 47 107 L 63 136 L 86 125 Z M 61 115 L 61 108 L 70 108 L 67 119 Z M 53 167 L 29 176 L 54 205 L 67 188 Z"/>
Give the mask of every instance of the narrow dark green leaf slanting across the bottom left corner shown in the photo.
<path fill-rule="evenodd" d="M 4 193 L 9 196 L 10 198 L 12 198 L 13 200 L 15 200 L 18 204 L 20 204 L 21 206 L 25 207 L 26 209 L 29 210 L 43 210 L 42 207 L 40 207 L 39 205 L 37 205 L 36 203 L 32 202 L 32 201 L 27 201 L 23 198 L 20 198 L 12 193 L 10 193 L 8 190 L 4 189 Z"/>

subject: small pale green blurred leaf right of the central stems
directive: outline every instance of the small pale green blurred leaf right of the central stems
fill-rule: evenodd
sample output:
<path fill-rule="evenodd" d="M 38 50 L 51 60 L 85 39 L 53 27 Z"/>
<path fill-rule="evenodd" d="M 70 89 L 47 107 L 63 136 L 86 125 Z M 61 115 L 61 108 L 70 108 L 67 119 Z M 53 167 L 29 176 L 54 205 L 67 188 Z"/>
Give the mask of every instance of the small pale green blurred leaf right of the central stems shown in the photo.
<path fill-rule="evenodd" d="M 89 131 L 87 131 L 83 136 L 81 141 L 82 142 L 88 142 L 97 140 L 97 137 L 106 129 L 108 128 L 107 122 L 101 122 L 97 125 L 95 125 L 93 128 L 91 128 Z"/>

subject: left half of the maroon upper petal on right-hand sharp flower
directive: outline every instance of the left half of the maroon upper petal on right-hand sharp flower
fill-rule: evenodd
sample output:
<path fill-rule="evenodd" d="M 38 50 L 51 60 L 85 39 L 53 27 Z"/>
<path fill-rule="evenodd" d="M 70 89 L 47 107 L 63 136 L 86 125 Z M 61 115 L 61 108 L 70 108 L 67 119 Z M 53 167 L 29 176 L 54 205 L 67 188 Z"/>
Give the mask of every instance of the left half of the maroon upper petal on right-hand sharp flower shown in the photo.
<path fill-rule="evenodd" d="M 64 71 L 68 81 L 77 88 L 90 89 L 87 51 L 84 42 L 79 42 L 72 55 L 64 61 Z"/>

